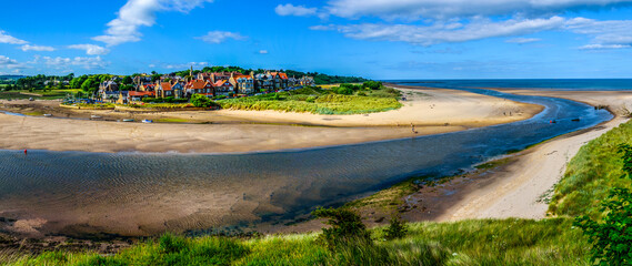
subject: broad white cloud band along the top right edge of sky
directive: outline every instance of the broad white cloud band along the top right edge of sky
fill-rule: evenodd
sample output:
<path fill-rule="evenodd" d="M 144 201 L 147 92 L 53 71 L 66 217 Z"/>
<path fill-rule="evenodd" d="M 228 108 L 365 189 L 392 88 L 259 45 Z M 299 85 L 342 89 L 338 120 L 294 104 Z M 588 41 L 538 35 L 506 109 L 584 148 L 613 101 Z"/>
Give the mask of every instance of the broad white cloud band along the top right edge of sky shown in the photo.
<path fill-rule="evenodd" d="M 331 0 L 324 7 L 342 18 L 387 20 L 449 19 L 476 16 L 548 14 L 569 9 L 599 9 L 632 4 L 631 0 Z"/>

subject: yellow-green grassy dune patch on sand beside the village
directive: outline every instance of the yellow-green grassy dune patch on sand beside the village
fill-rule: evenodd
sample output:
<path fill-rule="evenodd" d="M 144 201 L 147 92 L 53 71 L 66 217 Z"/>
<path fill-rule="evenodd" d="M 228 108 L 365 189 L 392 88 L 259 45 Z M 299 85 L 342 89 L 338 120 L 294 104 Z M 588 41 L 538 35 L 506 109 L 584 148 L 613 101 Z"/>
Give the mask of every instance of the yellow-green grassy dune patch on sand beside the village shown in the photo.
<path fill-rule="evenodd" d="M 275 110 L 314 114 L 363 114 L 395 110 L 402 106 L 398 94 L 389 90 L 360 92 L 360 95 L 331 94 L 328 90 L 304 88 L 291 93 L 280 92 L 259 96 L 218 101 L 222 109 Z M 367 94 L 367 95 L 362 95 Z"/>

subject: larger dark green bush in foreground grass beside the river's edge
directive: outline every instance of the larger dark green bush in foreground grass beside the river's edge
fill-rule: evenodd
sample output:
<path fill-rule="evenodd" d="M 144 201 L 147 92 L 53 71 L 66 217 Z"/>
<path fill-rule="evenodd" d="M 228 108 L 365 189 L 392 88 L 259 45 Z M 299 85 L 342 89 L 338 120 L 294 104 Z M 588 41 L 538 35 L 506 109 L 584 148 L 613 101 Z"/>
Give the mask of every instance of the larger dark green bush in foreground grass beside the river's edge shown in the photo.
<path fill-rule="evenodd" d="M 327 218 L 319 241 L 328 248 L 334 249 L 340 245 L 370 243 L 371 236 L 360 215 L 349 209 L 318 208 L 312 214 L 319 218 Z"/>

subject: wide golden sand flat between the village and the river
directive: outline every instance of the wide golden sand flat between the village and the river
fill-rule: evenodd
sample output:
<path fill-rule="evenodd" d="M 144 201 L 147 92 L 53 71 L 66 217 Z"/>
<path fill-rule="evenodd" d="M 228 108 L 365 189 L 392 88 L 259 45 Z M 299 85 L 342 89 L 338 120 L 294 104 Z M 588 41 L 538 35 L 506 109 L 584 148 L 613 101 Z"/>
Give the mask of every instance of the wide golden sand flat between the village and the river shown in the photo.
<path fill-rule="evenodd" d="M 122 123 L 0 114 L 0 149 L 87 152 L 227 153 L 341 145 L 462 131 L 533 116 L 542 106 L 454 90 L 404 90 L 404 108 L 368 115 L 315 115 L 257 111 L 209 111 L 129 114 L 69 111 L 59 102 L 2 101 L 3 110 L 33 110 L 54 116 L 185 119 L 212 124 Z M 17 104 L 17 105 L 16 105 Z M 512 115 L 509 115 L 509 112 Z M 231 123 L 237 122 L 237 123 Z M 250 123 L 291 123 L 297 126 Z M 410 124 L 415 124 L 413 133 Z M 399 125 L 399 126 L 398 126 Z"/>

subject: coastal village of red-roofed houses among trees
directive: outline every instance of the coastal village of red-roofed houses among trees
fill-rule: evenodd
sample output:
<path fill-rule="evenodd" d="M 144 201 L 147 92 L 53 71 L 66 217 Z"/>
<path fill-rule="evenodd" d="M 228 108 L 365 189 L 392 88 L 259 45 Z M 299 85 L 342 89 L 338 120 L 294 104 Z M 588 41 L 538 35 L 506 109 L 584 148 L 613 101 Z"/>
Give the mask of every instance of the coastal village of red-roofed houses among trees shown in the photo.
<path fill-rule="evenodd" d="M 160 80 L 152 81 L 151 75 L 137 75 L 133 79 L 133 91 L 119 90 L 120 82 L 119 76 L 101 82 L 99 98 L 103 102 L 128 104 L 140 102 L 144 98 L 190 99 L 193 94 L 201 94 L 210 99 L 224 99 L 315 85 L 313 76 L 288 76 L 284 72 L 201 72 L 194 75 L 192 68 L 184 78 L 164 74 Z"/>

